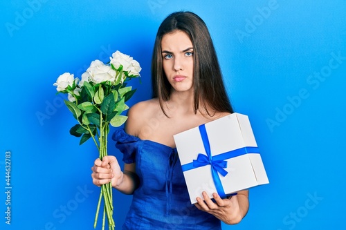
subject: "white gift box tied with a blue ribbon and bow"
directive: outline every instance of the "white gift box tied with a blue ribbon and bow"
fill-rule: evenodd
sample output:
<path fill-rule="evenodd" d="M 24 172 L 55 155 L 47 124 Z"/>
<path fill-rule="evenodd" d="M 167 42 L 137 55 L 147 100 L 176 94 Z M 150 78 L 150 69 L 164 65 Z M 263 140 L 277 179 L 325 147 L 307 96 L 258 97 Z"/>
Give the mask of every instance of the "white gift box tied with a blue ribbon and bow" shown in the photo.
<path fill-rule="evenodd" d="M 203 199 L 203 191 L 224 197 L 269 183 L 246 115 L 233 113 L 191 128 L 174 135 L 174 142 L 192 204 Z"/>

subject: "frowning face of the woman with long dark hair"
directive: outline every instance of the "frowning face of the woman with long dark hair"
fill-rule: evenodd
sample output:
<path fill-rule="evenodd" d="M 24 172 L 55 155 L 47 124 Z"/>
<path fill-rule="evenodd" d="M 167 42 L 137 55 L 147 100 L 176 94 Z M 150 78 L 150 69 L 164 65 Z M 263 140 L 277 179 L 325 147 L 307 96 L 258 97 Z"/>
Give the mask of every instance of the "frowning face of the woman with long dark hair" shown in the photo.
<path fill-rule="evenodd" d="M 172 90 L 192 90 L 194 58 L 190 37 L 181 30 L 163 35 L 161 50 L 163 71 Z"/>

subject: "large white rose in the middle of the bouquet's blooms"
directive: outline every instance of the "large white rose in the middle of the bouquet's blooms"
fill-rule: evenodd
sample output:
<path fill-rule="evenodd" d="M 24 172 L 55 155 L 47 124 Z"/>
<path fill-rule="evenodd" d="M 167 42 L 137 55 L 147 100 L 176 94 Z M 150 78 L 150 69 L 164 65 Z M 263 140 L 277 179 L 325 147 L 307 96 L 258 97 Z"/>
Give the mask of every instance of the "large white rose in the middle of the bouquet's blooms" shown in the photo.
<path fill-rule="evenodd" d="M 94 83 L 101 83 L 106 81 L 114 82 L 116 71 L 111 66 L 104 65 L 102 61 L 92 61 L 90 67 L 86 70 Z"/>

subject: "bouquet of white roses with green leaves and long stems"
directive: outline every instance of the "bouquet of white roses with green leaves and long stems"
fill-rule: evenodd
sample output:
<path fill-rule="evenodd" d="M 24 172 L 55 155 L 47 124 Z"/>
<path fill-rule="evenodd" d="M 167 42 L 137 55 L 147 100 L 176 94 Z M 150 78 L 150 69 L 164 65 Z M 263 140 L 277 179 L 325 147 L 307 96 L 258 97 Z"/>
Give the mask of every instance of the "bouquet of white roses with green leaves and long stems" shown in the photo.
<path fill-rule="evenodd" d="M 80 144 L 92 138 L 101 160 L 107 155 L 109 124 L 118 127 L 127 119 L 127 116 L 121 113 L 129 108 L 125 102 L 136 91 L 132 90 L 131 86 L 127 86 L 127 80 L 140 77 L 140 70 L 138 61 L 116 51 L 110 57 L 108 64 L 103 64 L 99 60 L 92 61 L 90 67 L 82 74 L 81 80 L 74 78 L 73 74 L 64 73 L 53 84 L 57 86 L 58 93 L 68 95 L 68 100 L 64 102 L 78 121 L 78 124 L 71 128 L 71 135 L 81 137 Z M 104 200 L 102 229 L 104 229 L 106 214 L 109 229 L 114 229 L 111 182 L 101 186 L 94 228 L 97 224 L 102 198 Z"/>

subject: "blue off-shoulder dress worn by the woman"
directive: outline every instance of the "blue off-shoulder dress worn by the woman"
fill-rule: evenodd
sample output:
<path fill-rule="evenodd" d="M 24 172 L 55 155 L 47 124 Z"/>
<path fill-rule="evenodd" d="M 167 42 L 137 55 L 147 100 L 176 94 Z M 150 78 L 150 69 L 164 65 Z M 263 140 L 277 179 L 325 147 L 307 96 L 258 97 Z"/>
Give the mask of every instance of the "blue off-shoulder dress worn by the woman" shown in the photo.
<path fill-rule="evenodd" d="M 116 147 L 140 180 L 122 229 L 221 230 L 221 221 L 191 204 L 176 148 L 118 129 Z"/>

